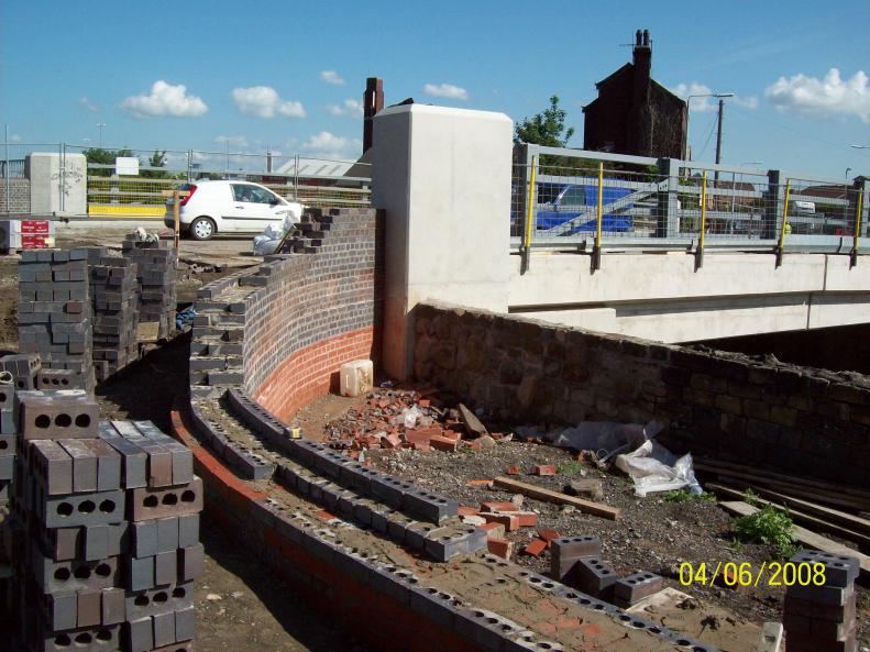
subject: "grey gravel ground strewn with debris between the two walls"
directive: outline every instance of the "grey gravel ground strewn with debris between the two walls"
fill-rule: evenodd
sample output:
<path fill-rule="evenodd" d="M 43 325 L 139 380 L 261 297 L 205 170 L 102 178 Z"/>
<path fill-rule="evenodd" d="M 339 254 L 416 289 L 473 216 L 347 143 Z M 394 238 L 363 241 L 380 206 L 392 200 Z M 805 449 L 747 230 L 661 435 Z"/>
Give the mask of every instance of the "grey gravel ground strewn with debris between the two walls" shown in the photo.
<path fill-rule="evenodd" d="M 395 397 L 396 393 L 376 389 L 367 399 Z M 324 439 L 335 432 L 337 426 L 351 422 L 373 424 L 376 418 L 361 420 L 360 408 L 363 401 L 356 399 L 351 406 L 351 416 L 334 415 L 348 399 L 333 397 L 322 399 L 317 409 L 309 410 L 322 416 Z M 378 412 L 378 408 L 366 408 Z M 327 421 L 327 418 L 330 418 Z M 388 417 L 387 417 L 388 419 Z M 515 424 L 519 426 L 519 424 Z M 309 428 L 309 430 L 311 430 Z M 513 429 L 505 424 L 494 426 L 492 430 L 509 433 Z M 679 570 L 683 563 L 694 567 L 706 563 L 708 575 L 720 562 L 736 564 L 749 563 L 758 571 L 762 563 L 770 562 L 774 553 L 770 546 L 761 544 L 735 544 L 731 534 L 733 519 L 715 502 L 691 500 L 672 502 L 663 499 L 662 494 L 646 498 L 635 495 L 634 485 L 627 476 L 615 468 L 599 471 L 588 462 L 580 462 L 566 450 L 542 443 L 499 440 L 494 446 L 473 451 L 460 446 L 455 453 L 442 451 L 415 451 L 411 449 L 367 451 L 366 456 L 379 468 L 399 477 L 411 479 L 418 485 L 447 495 L 461 505 L 478 507 L 485 500 L 510 500 L 516 497 L 508 491 L 470 480 L 487 480 L 504 476 L 508 467 L 518 466 L 520 474 L 514 476 L 530 484 L 562 491 L 566 484 L 580 478 L 602 480 L 604 496 L 601 502 L 621 510 L 620 518 L 612 521 L 582 513 L 571 507 L 542 502 L 524 497 L 524 509 L 538 513 L 539 527 L 553 528 L 562 535 L 594 534 L 603 543 L 603 557 L 620 575 L 637 571 L 651 571 L 662 575 L 665 584 L 712 604 L 725 607 L 734 614 L 755 623 L 779 621 L 782 616 L 784 589 L 760 582 L 757 587 L 729 588 L 726 586 L 703 586 L 680 583 Z M 554 476 L 531 475 L 532 467 L 539 464 L 553 464 L 559 468 Z M 540 573 L 549 573 L 549 554 L 540 557 L 521 553 L 522 548 L 536 538 L 536 530 L 522 528 L 509 533 L 515 542 L 515 561 Z M 859 640 L 870 644 L 870 594 L 859 589 Z"/>

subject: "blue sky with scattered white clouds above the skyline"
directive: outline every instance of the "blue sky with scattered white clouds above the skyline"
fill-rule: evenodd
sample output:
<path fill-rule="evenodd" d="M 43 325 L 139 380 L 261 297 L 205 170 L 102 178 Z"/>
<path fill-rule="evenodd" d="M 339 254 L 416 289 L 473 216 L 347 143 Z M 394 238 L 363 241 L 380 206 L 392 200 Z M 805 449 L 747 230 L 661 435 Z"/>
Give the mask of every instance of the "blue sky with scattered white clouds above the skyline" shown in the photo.
<path fill-rule="evenodd" d="M 581 107 L 652 36 L 653 77 L 727 100 L 725 163 L 870 176 L 870 2 L 550 0 L 0 2 L 0 126 L 13 140 L 355 156 L 365 78 L 408 97 L 531 115 Z M 681 86 L 682 85 L 682 86 Z M 693 86 L 694 85 L 694 86 Z M 184 88 L 181 88 L 184 87 Z M 693 100 L 694 158 L 713 106 Z M 18 147 L 24 150 L 24 145 Z M 15 155 L 12 147 L 11 155 Z"/>

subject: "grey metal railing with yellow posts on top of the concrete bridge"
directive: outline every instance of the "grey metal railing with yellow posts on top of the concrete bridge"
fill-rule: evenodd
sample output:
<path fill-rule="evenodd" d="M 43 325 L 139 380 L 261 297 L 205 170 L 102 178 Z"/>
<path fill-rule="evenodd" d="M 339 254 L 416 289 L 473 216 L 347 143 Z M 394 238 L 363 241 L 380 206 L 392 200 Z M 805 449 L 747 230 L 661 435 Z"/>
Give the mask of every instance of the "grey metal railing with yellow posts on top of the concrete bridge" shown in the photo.
<path fill-rule="evenodd" d="M 869 192 L 863 179 L 844 184 L 781 170 L 519 145 L 511 248 L 524 254 L 525 266 L 533 248 L 597 256 L 606 250 L 680 248 L 695 251 L 700 264 L 705 246 L 780 255 L 855 250 L 857 256 Z"/>

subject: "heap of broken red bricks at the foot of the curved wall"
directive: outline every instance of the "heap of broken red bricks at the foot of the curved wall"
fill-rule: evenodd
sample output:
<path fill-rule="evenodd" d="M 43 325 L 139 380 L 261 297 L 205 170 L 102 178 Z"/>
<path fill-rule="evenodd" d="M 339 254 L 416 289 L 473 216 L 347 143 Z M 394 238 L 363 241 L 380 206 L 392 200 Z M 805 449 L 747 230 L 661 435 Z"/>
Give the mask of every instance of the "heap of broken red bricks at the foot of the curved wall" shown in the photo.
<path fill-rule="evenodd" d="M 510 435 L 488 432 L 464 405 L 447 407 L 432 389 L 379 388 L 326 427 L 335 449 L 481 450 Z M 355 455 L 354 455 L 355 456 Z"/>

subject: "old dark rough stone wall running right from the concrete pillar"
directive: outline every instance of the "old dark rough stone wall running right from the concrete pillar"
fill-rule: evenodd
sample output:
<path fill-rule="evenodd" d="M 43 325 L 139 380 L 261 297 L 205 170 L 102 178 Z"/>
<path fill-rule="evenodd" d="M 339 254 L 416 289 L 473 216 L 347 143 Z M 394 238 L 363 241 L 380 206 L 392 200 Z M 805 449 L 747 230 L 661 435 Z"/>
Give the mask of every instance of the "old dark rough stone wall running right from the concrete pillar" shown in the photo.
<path fill-rule="evenodd" d="M 870 486 L 862 377 L 449 305 L 415 320 L 417 378 L 514 423 L 663 419 L 679 452 Z"/>

